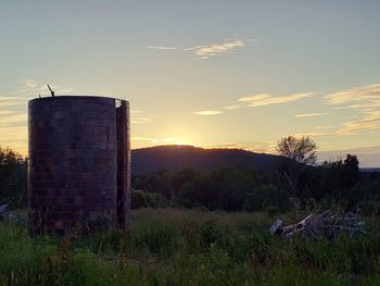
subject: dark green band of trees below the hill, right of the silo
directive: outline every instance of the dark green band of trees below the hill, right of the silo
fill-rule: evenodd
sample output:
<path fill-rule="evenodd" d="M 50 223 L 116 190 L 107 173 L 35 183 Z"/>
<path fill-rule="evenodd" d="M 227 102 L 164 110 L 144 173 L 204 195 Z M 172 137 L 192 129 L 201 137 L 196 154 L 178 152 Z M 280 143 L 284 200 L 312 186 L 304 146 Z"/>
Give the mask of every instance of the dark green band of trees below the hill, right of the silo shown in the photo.
<path fill-rule="evenodd" d="M 271 173 L 226 166 L 135 175 L 132 208 L 287 212 L 325 206 L 380 214 L 380 173 L 359 172 L 355 156 L 318 166 L 288 161 Z"/>

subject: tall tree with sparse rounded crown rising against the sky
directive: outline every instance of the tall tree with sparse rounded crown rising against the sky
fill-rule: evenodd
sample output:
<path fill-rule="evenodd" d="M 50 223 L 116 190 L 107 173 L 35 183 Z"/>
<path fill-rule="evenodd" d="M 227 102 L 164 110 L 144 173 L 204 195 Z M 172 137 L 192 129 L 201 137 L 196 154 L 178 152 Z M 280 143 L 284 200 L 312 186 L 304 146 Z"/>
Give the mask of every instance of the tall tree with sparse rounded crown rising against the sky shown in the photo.
<path fill-rule="evenodd" d="M 297 182 L 301 171 L 305 165 L 314 165 L 317 162 L 317 145 L 308 136 L 296 138 L 287 136 L 277 144 L 277 151 L 283 160 L 283 175 L 286 176 L 293 195 L 297 191 Z"/>

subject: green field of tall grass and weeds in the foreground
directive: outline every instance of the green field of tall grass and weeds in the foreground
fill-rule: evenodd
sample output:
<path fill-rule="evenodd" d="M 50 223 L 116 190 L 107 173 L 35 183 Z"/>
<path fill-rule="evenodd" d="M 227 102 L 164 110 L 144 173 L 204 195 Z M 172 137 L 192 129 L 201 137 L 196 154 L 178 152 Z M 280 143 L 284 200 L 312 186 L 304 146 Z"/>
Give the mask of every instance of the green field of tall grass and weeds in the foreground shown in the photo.
<path fill-rule="evenodd" d="M 271 236 L 274 219 L 141 209 L 128 236 L 74 241 L 1 222 L 0 285 L 380 285 L 379 217 L 365 219 L 370 234 L 318 241 Z"/>

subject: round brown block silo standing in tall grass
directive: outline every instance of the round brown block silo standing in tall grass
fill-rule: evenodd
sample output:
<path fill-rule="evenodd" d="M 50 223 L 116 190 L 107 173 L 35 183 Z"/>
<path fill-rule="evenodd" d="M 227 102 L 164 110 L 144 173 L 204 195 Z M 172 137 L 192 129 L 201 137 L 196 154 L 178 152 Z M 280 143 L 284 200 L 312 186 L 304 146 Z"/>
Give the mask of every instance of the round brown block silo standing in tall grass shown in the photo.
<path fill-rule="evenodd" d="M 129 222 L 129 103 L 60 96 L 29 101 L 28 206 L 36 233 Z"/>

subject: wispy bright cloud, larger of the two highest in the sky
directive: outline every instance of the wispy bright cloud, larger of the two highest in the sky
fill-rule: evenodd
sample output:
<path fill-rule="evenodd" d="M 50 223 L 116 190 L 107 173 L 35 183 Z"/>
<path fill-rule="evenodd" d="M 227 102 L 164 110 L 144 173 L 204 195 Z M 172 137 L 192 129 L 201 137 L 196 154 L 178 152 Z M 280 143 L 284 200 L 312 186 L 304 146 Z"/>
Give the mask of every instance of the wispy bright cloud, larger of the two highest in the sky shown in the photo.
<path fill-rule="evenodd" d="M 239 39 L 229 39 L 225 42 L 220 43 L 212 43 L 212 45 L 202 45 L 195 46 L 191 48 L 183 49 L 185 51 L 193 51 L 193 53 L 202 60 L 207 60 L 212 57 L 219 55 L 225 52 L 230 52 L 236 50 L 237 48 L 244 47 L 244 42 Z"/>

